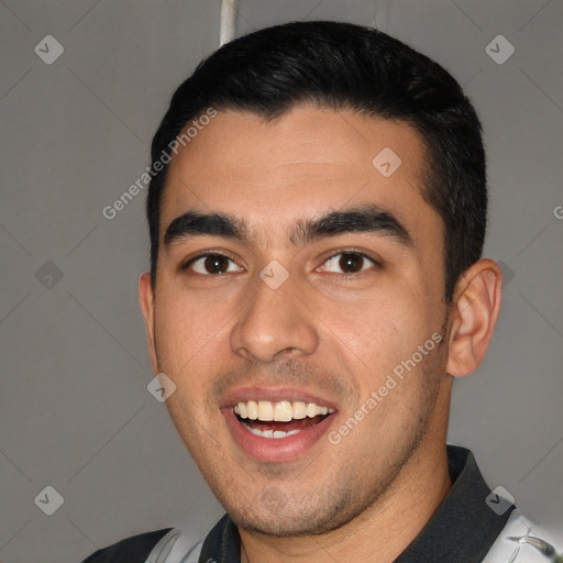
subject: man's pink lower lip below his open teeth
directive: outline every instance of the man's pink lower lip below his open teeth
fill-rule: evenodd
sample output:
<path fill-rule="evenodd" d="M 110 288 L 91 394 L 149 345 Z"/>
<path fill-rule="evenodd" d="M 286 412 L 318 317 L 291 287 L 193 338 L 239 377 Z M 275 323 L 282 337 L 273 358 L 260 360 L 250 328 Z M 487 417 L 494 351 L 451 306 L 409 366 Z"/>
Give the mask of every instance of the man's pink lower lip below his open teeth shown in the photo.
<path fill-rule="evenodd" d="M 330 415 L 317 424 L 285 438 L 263 438 L 249 432 L 239 422 L 233 409 L 223 409 L 222 413 L 231 434 L 244 452 L 257 461 L 272 463 L 289 462 L 303 455 L 328 431 L 333 419 L 333 415 Z"/>

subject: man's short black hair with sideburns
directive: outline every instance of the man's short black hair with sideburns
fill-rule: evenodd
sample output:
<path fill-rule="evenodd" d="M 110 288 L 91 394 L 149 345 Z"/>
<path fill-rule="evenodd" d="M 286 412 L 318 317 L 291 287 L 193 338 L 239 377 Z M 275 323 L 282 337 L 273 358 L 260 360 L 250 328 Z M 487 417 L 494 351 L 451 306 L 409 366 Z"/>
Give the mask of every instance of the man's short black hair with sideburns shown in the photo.
<path fill-rule="evenodd" d="M 481 258 L 487 223 L 482 125 L 439 64 L 372 27 L 291 22 L 234 40 L 202 60 L 174 96 L 152 143 L 153 163 L 210 108 L 275 119 L 300 102 L 405 122 L 426 147 L 422 196 L 444 224 L 445 299 Z M 168 158 L 169 161 L 169 158 Z M 156 284 L 166 164 L 151 180 L 146 213 Z"/>

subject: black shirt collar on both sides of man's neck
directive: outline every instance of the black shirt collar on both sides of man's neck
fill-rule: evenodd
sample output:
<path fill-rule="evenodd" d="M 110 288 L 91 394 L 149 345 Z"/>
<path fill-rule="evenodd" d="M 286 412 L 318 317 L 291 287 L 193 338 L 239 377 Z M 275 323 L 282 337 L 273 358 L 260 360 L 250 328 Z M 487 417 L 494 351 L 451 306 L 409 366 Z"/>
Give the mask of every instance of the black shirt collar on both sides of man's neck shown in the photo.
<path fill-rule="evenodd" d="M 490 494 L 470 450 L 448 445 L 453 485 L 424 529 L 395 563 L 453 561 L 481 563 L 508 520 L 514 506 L 497 515 L 486 504 Z M 240 536 L 225 515 L 207 536 L 199 563 L 240 563 Z"/>

